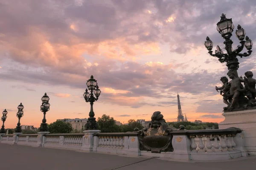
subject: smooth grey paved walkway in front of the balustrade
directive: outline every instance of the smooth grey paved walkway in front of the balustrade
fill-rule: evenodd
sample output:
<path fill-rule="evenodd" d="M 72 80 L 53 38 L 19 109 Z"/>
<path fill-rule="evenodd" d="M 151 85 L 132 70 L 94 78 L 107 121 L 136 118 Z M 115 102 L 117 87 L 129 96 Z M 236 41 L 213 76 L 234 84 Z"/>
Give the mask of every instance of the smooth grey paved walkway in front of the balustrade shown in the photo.
<path fill-rule="evenodd" d="M 0 144 L 0 170 L 254 170 L 256 157 L 219 162 L 177 162 L 159 158 L 85 153 Z"/>

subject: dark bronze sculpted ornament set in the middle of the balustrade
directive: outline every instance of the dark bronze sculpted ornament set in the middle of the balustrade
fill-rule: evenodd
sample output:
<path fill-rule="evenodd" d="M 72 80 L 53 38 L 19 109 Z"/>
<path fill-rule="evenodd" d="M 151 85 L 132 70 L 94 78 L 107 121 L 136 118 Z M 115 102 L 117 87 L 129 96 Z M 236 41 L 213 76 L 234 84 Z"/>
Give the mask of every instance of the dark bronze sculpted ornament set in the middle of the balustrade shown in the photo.
<path fill-rule="evenodd" d="M 167 125 L 160 111 L 154 112 L 148 127 L 138 131 L 140 150 L 152 153 L 172 152 L 172 130 L 177 129 Z"/>

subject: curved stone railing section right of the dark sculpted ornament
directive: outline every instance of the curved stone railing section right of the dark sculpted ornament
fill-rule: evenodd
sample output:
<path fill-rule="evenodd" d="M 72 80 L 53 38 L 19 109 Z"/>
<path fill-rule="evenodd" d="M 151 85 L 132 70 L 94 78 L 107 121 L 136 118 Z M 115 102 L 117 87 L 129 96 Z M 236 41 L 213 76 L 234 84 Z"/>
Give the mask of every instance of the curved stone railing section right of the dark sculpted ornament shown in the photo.
<path fill-rule="evenodd" d="M 186 160 L 223 160 L 247 156 L 241 132 L 241 129 L 235 127 L 173 131 L 172 157 Z M 196 138 L 198 142 L 195 142 Z"/>

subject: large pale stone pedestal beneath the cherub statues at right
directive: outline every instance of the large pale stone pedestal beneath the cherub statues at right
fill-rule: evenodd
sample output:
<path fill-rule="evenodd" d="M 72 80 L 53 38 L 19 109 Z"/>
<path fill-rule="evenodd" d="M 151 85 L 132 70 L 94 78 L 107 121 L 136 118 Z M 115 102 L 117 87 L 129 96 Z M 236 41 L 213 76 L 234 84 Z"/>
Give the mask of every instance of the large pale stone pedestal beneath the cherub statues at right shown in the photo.
<path fill-rule="evenodd" d="M 250 155 L 256 155 L 256 109 L 245 111 L 224 112 L 223 122 L 219 129 L 237 127 L 243 130 L 241 137 L 244 140 L 244 148 Z"/>

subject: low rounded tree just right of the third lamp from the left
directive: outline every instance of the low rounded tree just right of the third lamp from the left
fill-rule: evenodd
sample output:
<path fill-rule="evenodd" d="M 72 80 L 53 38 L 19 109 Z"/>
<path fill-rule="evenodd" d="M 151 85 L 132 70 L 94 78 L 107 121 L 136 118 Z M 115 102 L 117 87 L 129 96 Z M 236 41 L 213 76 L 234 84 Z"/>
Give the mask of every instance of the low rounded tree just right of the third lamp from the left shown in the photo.
<path fill-rule="evenodd" d="M 50 133 L 70 133 L 73 130 L 70 123 L 61 120 L 52 122 L 48 127 Z"/>

